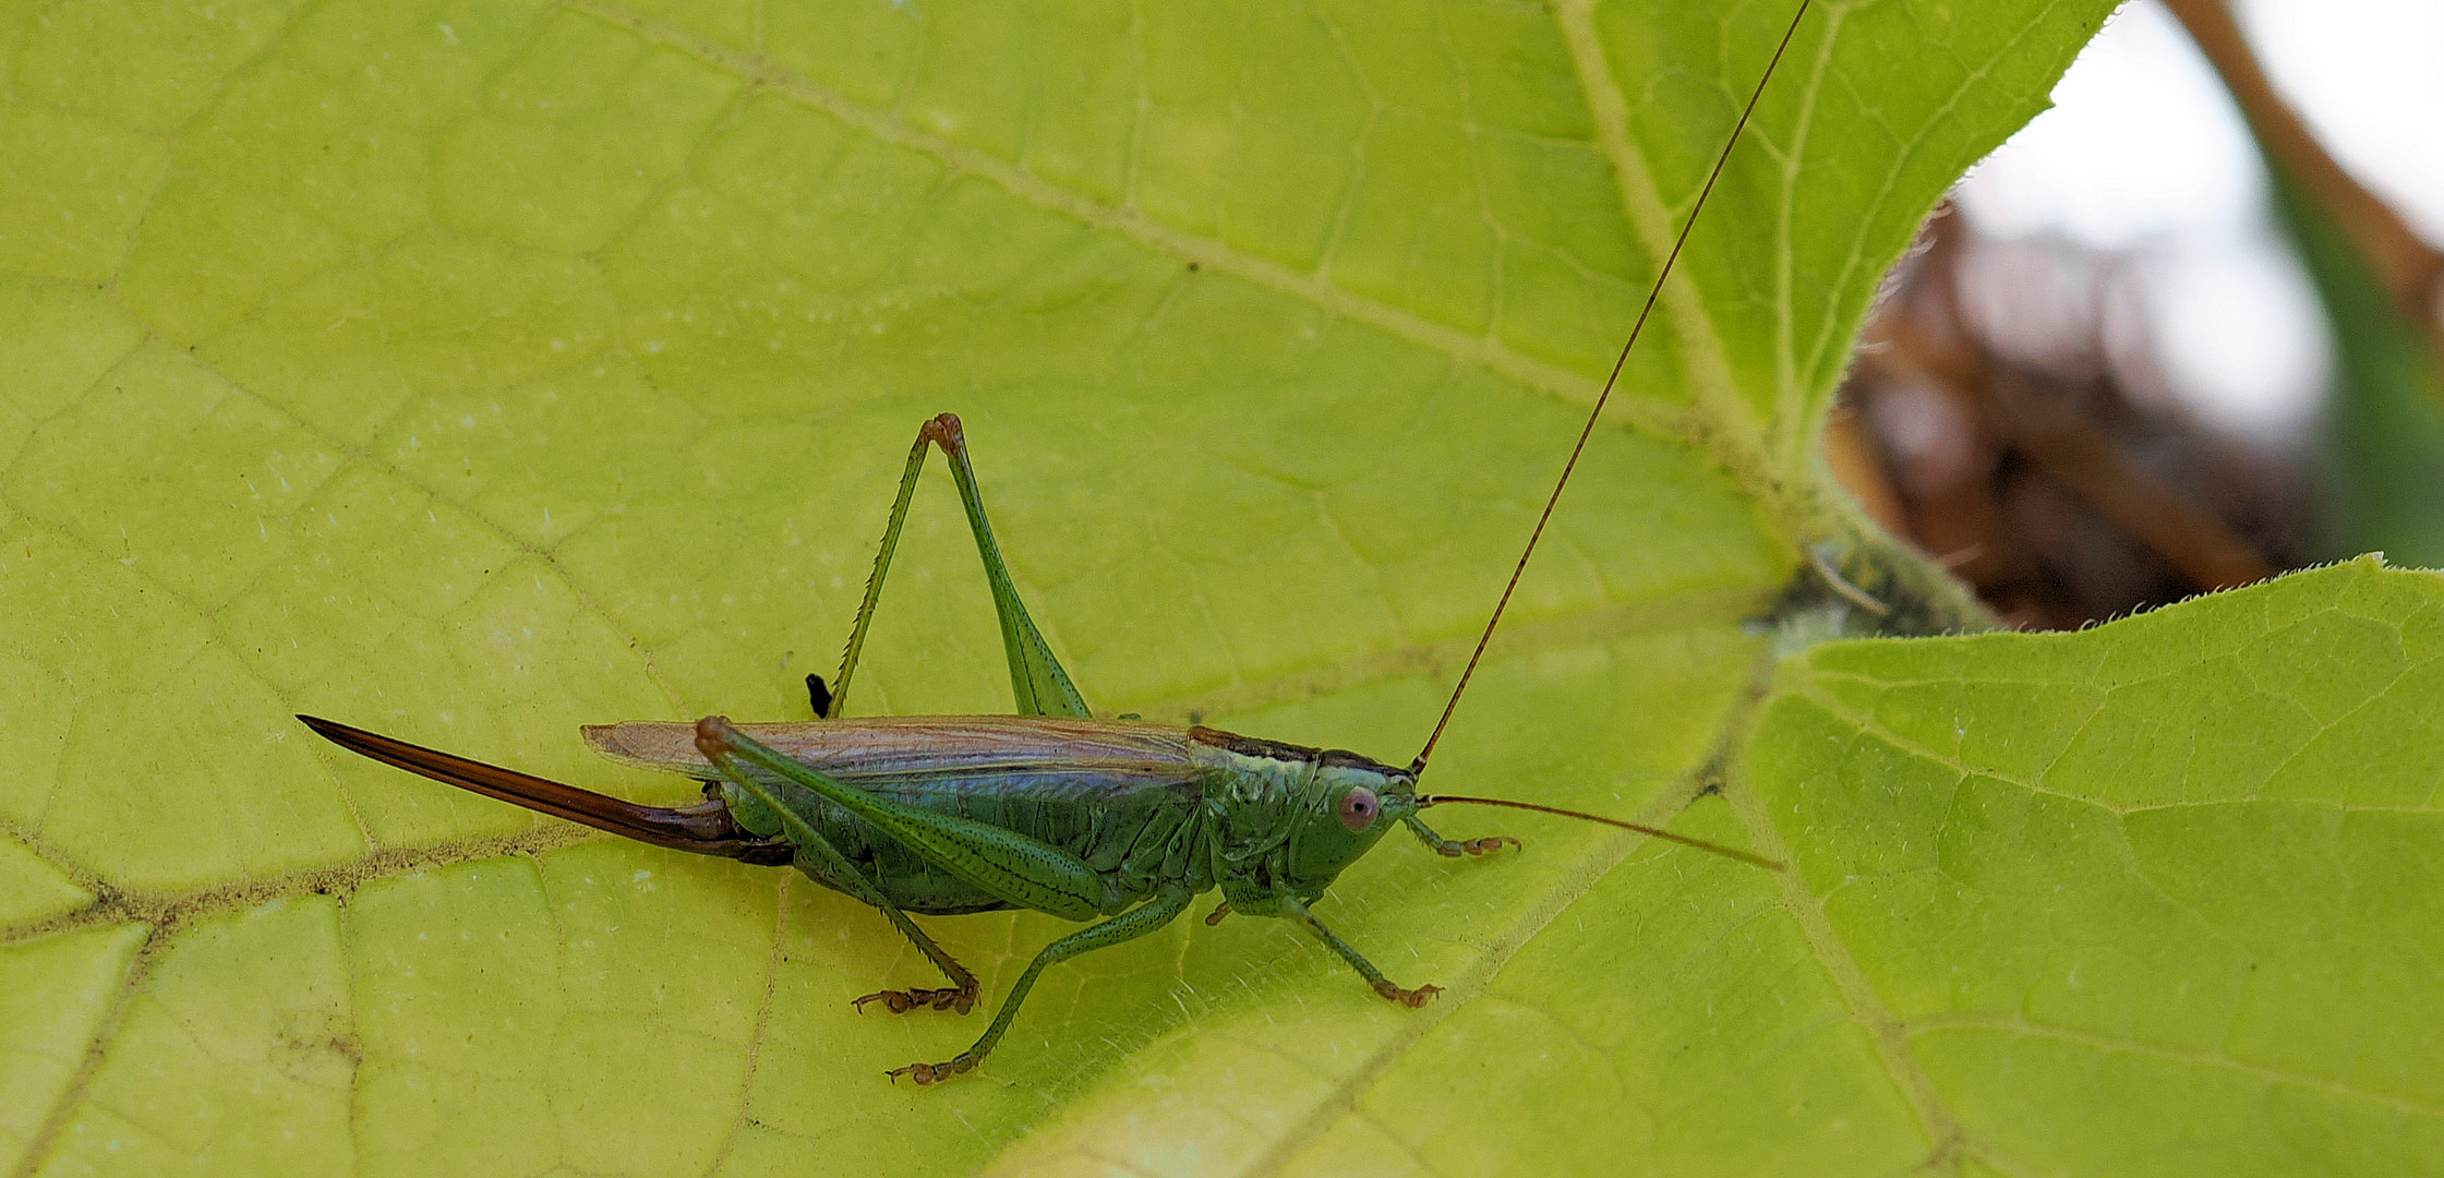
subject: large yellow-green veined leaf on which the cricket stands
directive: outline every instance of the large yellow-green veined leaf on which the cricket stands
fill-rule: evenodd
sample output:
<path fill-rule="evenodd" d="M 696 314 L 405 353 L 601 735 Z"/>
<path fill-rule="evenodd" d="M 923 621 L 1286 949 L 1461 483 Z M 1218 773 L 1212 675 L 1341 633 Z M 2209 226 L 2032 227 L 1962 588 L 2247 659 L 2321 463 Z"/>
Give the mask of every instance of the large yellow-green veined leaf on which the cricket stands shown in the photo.
<path fill-rule="evenodd" d="M 2432 1168 L 2432 577 L 1747 623 L 1862 543 L 1811 447 L 1882 271 L 2107 7 L 1809 15 L 1435 760 L 1791 873 L 1449 821 L 1528 851 L 1322 907 L 1432 1007 L 1178 921 L 934 1090 L 978 1019 L 848 1007 L 931 985 L 873 912 L 288 714 L 682 799 L 572 726 L 804 716 L 948 408 L 1095 704 L 1400 760 L 1789 12 L 0 15 L 0 1158 Z M 926 484 L 858 706 L 997 660 Z M 990 1000 L 1066 929 L 931 926 Z"/>

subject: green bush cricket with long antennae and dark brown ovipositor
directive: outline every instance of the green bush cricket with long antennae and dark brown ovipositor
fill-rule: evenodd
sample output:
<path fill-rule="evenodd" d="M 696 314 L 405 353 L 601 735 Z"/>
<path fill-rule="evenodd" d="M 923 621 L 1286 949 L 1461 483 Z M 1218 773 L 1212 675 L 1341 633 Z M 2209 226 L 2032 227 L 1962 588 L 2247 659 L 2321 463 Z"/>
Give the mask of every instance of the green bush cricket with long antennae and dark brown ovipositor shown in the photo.
<path fill-rule="evenodd" d="M 814 721 L 733 726 L 723 716 L 697 723 L 631 721 L 584 728 L 596 753 L 621 763 L 682 772 L 704 782 L 694 807 L 643 807 L 547 782 L 516 770 L 437 753 L 315 716 L 298 716 L 315 733 L 367 758 L 579 821 L 643 843 L 723 855 L 758 865 L 794 865 L 814 882 L 873 904 L 941 973 L 948 987 L 877 990 L 855 1007 L 880 1002 L 892 1012 L 916 1007 L 965 1014 L 980 997 L 978 978 L 953 960 L 909 914 L 1036 909 L 1070 921 L 1097 921 L 1046 946 L 1009 987 L 985 1034 L 943 1063 L 912 1063 L 887 1075 L 919 1085 L 973 1070 L 1009 1029 L 1046 965 L 1092 948 L 1117 946 L 1171 924 L 1200 892 L 1222 890 L 1224 914 L 1283 916 L 1303 924 L 1359 970 L 1391 1002 L 1422 1007 L 1440 987 L 1400 987 L 1354 946 L 1315 919 L 1325 887 L 1371 851 L 1393 826 L 1405 826 L 1442 855 L 1481 855 L 1515 838 L 1454 841 L 1430 829 L 1420 811 L 1437 804 L 1513 807 L 1623 826 L 1655 838 L 1713 851 L 1762 868 L 1774 860 L 1672 831 L 1528 802 L 1420 794 L 1435 743 L 1452 721 L 1476 662 L 1493 638 L 1520 572 L 1552 518 L 1603 403 L 1620 379 L 1637 335 L 1706 208 L 1716 178 L 1755 112 L 1782 51 L 1806 17 L 1806 0 L 1757 78 L 1747 108 L 1706 186 L 1664 257 L 1637 323 L 1613 364 L 1596 406 L 1569 452 L 1545 513 L 1486 621 L 1466 670 L 1452 687 L 1442 719 L 1408 767 L 1356 753 L 1259 741 L 1205 726 L 1139 719 L 1095 719 L 1026 616 L 1002 565 L 956 415 L 926 420 L 899 477 L 882 547 L 851 628 L 841 672 L 831 684 L 809 675 Z M 882 579 L 890 572 L 916 479 L 931 450 L 948 459 L 968 525 L 985 565 L 1009 660 L 1012 716 L 885 716 L 843 719 L 858 655 L 865 645 Z"/>

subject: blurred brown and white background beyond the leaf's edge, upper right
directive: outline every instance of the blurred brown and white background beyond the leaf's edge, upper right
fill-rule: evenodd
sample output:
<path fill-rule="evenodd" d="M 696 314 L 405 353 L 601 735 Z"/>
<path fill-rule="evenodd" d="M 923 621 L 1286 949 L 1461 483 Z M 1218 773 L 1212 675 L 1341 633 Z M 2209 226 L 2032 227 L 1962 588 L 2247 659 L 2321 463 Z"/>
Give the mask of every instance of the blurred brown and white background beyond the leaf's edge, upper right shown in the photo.
<path fill-rule="evenodd" d="M 1928 222 L 1828 462 L 2007 623 L 2444 567 L 2444 5 L 2124 7 Z"/>

